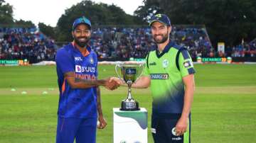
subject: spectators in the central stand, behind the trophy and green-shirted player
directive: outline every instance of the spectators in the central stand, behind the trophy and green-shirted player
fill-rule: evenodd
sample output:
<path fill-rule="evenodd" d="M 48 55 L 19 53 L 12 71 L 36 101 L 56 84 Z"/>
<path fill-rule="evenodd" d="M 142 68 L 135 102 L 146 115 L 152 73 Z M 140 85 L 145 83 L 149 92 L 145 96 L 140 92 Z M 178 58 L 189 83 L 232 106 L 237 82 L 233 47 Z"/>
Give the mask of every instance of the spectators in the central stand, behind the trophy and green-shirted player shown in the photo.
<path fill-rule="evenodd" d="M 205 28 L 174 26 L 171 41 L 187 47 L 191 56 L 208 56 L 213 50 Z M 100 58 L 141 58 L 156 47 L 149 27 L 97 28 L 92 32 L 92 49 Z"/>

